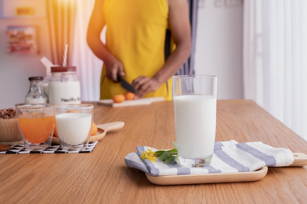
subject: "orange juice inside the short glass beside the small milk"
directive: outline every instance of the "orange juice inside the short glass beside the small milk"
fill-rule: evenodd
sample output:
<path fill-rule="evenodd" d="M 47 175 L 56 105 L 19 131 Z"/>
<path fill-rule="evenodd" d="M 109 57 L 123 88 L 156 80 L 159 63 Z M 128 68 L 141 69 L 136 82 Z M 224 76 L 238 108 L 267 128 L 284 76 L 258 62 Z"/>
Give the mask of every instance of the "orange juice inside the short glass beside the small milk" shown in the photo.
<path fill-rule="evenodd" d="M 31 143 L 45 142 L 53 133 L 54 115 L 20 115 L 18 122 L 23 136 Z"/>

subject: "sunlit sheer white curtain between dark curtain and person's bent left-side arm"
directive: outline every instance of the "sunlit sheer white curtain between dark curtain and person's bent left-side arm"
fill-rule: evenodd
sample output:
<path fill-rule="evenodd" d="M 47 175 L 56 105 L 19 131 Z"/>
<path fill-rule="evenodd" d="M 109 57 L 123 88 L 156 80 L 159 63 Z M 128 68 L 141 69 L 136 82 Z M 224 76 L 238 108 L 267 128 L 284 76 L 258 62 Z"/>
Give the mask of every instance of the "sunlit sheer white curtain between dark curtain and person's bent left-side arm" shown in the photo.
<path fill-rule="evenodd" d="M 77 66 L 77 77 L 81 85 L 81 101 L 99 101 L 102 61 L 86 43 L 86 32 L 95 0 L 77 0 L 72 65 Z M 103 35 L 102 35 L 103 37 Z"/>

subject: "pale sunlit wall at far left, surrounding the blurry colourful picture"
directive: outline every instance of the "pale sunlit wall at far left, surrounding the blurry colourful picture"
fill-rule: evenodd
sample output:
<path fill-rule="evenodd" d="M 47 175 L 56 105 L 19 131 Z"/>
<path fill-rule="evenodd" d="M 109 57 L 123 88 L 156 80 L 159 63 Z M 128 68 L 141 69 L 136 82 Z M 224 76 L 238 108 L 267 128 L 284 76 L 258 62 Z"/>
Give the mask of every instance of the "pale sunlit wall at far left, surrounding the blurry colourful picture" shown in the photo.
<path fill-rule="evenodd" d="M 13 3 L 13 1 L 8 0 L 5 0 L 5 2 Z M 17 1 L 15 0 L 14 2 L 16 3 Z M 18 2 L 25 1 L 19 0 Z M 27 3 L 31 2 L 33 3 L 33 0 Z M 12 18 L 3 14 L 1 9 L 1 7 L 3 8 L 2 0 L 0 0 L 0 4 L 0 109 L 5 109 L 14 108 L 16 103 L 25 103 L 25 97 L 29 91 L 28 77 L 46 76 L 46 69 L 40 59 L 43 56 L 51 59 L 51 44 L 45 15 L 46 7 L 40 7 L 42 10 L 39 12 L 39 17 Z M 6 34 L 6 30 L 8 25 L 37 26 L 39 53 L 7 53 L 6 47 L 9 45 L 9 37 Z"/>

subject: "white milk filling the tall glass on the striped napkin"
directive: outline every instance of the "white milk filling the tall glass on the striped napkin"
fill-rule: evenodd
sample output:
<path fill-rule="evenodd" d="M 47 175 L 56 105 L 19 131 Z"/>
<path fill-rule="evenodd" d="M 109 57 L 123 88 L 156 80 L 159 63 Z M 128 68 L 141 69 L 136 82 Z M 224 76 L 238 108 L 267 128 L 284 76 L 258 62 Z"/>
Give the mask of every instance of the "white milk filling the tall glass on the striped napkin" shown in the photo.
<path fill-rule="evenodd" d="M 178 154 L 205 158 L 212 154 L 216 130 L 216 97 L 179 95 L 173 98 Z"/>

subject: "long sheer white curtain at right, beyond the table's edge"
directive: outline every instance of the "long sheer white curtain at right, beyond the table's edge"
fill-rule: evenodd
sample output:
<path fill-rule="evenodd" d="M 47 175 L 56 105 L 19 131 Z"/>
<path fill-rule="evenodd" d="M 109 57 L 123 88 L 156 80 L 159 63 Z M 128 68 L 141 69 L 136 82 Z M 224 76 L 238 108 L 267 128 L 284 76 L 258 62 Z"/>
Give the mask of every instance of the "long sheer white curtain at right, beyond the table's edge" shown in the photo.
<path fill-rule="evenodd" d="M 244 96 L 307 140 L 307 0 L 244 1 Z"/>

